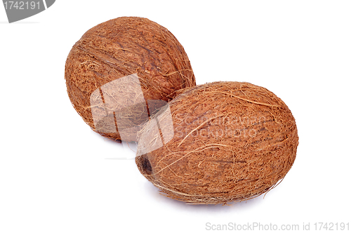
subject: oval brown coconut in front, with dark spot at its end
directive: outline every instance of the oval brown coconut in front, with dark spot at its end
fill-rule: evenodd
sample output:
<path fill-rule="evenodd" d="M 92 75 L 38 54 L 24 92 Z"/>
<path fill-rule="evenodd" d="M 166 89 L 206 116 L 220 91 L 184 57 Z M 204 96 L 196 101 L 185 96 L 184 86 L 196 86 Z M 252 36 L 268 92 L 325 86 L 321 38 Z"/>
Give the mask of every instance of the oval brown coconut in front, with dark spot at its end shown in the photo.
<path fill-rule="evenodd" d="M 231 81 L 187 88 L 138 138 L 140 173 L 187 204 L 258 197 L 282 181 L 298 147 L 293 114 L 277 95 Z"/>

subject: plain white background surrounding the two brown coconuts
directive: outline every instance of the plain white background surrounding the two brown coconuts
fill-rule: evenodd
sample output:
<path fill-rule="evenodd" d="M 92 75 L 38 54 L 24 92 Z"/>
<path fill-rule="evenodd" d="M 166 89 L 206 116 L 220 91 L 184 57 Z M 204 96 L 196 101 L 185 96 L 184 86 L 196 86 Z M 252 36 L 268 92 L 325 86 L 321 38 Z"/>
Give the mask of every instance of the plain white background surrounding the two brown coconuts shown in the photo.
<path fill-rule="evenodd" d="M 8 24 L 0 6 L 0 232 L 350 222 L 350 12 L 351 1 L 61 0 Z M 197 84 L 249 81 L 286 102 L 300 145 L 293 168 L 264 199 L 192 206 L 161 196 L 133 159 L 118 159 L 133 152 L 75 112 L 67 55 L 88 29 L 120 16 L 167 27 Z"/>

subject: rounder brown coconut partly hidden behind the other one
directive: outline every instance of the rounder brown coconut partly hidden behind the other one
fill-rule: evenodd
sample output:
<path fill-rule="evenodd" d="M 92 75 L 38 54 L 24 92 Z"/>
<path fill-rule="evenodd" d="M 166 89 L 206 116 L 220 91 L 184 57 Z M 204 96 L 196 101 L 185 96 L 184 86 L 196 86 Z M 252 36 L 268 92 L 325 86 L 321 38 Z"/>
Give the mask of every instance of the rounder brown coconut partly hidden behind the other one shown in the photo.
<path fill-rule="evenodd" d="M 133 79 L 123 88 L 122 82 L 114 82 L 126 76 Z M 69 52 L 65 79 L 69 99 L 86 124 L 114 140 L 121 140 L 118 130 L 123 128 L 126 141 L 135 140 L 138 125 L 176 91 L 196 85 L 176 37 L 156 22 L 137 17 L 116 18 L 89 29 Z"/>

